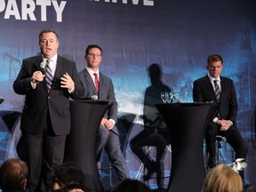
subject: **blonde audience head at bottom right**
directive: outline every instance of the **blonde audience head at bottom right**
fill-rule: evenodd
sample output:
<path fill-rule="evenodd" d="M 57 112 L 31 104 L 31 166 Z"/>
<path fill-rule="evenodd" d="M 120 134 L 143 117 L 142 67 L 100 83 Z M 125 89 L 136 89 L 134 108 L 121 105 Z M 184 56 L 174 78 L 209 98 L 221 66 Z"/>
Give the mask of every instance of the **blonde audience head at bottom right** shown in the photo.
<path fill-rule="evenodd" d="M 226 164 L 219 164 L 213 168 L 204 180 L 202 192 L 219 191 L 243 191 L 243 181 L 241 176 Z"/>

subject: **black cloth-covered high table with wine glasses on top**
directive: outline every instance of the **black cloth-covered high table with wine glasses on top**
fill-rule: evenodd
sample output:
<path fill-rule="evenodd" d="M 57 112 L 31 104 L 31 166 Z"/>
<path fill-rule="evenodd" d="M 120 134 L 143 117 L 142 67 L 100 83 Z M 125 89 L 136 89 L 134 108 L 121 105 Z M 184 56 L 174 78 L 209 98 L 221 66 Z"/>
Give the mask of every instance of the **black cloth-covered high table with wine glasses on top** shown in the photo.
<path fill-rule="evenodd" d="M 172 169 L 169 192 L 199 192 L 205 171 L 203 158 L 206 124 L 216 108 L 214 103 L 157 104 L 172 140 Z"/>

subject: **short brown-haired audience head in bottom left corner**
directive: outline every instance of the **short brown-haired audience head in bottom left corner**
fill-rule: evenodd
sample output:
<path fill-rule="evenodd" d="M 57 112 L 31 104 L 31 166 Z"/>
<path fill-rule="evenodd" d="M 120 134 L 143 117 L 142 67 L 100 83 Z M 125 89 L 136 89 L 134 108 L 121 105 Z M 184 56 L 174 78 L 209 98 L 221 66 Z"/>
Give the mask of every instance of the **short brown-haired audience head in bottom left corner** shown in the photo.
<path fill-rule="evenodd" d="M 26 188 L 28 165 L 19 158 L 7 159 L 0 167 L 0 188 L 3 192 Z"/>

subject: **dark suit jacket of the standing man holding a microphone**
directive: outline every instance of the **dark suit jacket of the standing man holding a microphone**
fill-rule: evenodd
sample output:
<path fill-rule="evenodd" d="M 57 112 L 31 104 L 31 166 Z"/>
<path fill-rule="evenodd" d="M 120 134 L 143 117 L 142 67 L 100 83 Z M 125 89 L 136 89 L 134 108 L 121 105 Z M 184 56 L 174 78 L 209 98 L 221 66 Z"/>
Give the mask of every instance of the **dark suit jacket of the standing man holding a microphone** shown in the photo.
<path fill-rule="evenodd" d="M 76 63 L 58 55 L 52 88 L 48 93 L 45 79 L 36 84 L 36 89 L 30 84 L 31 76 L 36 70 L 40 70 L 42 61 L 41 55 L 23 60 L 20 73 L 13 84 L 14 92 L 26 95 L 20 129 L 30 134 L 43 132 L 49 110 L 53 132 L 56 135 L 66 135 L 70 131 L 69 97 L 79 99 L 84 92 Z M 66 72 L 75 82 L 75 92 L 71 94 L 68 89 L 60 88 L 60 77 Z"/>

